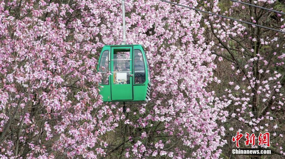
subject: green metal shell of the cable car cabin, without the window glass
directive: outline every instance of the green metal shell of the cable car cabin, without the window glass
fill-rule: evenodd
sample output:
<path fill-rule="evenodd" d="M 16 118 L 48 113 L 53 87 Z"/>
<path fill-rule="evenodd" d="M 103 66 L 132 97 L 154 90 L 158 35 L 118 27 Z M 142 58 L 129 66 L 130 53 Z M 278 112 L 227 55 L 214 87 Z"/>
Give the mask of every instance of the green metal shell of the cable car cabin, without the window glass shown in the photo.
<path fill-rule="evenodd" d="M 114 72 L 121 72 L 121 71 L 114 71 L 114 51 L 118 49 L 130 49 L 130 75 L 134 75 L 134 50 L 138 49 L 142 52 L 143 55 L 143 61 L 144 61 L 144 66 L 145 66 L 145 82 L 140 83 L 140 84 L 135 84 L 135 79 L 134 76 L 129 76 L 130 82 L 127 84 L 114 84 L 114 80 L 116 80 L 116 74 L 114 75 Z M 150 80 L 148 79 L 148 75 L 150 72 L 148 71 L 148 66 L 147 66 L 147 60 L 146 60 L 146 55 L 144 53 L 143 47 L 141 45 L 106 45 L 102 48 L 101 51 L 101 56 L 102 53 L 108 50 L 109 51 L 109 71 L 111 72 L 112 75 L 109 76 L 109 85 L 102 85 L 103 88 L 100 88 L 100 95 L 103 96 L 103 101 L 104 102 L 126 102 L 126 103 L 147 103 L 149 100 L 149 95 L 150 95 Z M 100 60 L 99 60 L 100 62 Z M 115 62 L 116 65 L 116 62 Z M 116 65 L 117 66 L 117 65 Z M 99 65 L 98 65 L 98 70 L 99 70 Z M 128 72 L 128 71 L 124 71 Z"/>

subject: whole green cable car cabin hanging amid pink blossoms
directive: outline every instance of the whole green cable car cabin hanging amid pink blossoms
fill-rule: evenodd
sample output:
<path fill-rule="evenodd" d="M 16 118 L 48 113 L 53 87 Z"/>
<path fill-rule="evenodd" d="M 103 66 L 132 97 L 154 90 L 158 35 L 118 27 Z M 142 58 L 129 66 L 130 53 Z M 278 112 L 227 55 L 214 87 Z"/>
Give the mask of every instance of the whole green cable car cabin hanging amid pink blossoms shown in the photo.
<path fill-rule="evenodd" d="M 142 45 L 105 45 L 97 70 L 104 102 L 145 104 L 150 99 L 150 69 Z"/>

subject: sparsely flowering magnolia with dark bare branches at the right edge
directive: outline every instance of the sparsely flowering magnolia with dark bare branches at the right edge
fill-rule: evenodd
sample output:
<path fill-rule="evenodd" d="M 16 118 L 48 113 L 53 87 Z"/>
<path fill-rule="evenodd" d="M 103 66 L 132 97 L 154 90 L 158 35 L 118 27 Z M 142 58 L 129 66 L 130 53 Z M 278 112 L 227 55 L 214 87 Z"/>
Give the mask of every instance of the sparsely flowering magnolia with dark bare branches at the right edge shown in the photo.
<path fill-rule="evenodd" d="M 284 1 L 243 1 L 273 8 L 284 12 Z M 207 4 L 207 5 L 206 5 Z M 244 17 L 242 20 L 285 31 L 284 14 L 269 12 L 240 3 L 228 1 L 205 2 L 203 9 L 226 16 Z M 222 11 L 218 5 L 227 6 Z M 222 89 L 217 91 L 220 99 L 230 101 L 226 127 L 228 148 L 234 148 L 231 142 L 237 131 L 255 133 L 256 142 L 259 133 L 270 133 L 270 144 L 275 157 L 285 155 L 284 148 L 284 58 L 285 34 L 252 25 L 242 25 L 223 18 L 205 16 L 209 28 L 208 44 L 213 54 L 218 55 L 219 71 L 227 71 L 219 78 Z M 224 60 L 224 61 L 222 61 Z M 212 89 L 216 89 L 217 87 Z M 240 140 L 245 146 L 245 138 Z M 258 144 L 254 147 L 258 147 Z M 225 148 L 226 149 L 226 148 Z M 230 152 L 228 152 L 230 155 Z"/>

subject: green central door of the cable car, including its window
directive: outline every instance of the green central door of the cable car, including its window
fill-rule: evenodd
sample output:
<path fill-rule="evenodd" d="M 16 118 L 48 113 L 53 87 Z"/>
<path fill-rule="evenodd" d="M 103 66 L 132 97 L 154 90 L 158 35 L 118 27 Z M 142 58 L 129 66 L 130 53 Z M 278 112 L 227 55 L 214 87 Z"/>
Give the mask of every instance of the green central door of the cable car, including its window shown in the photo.
<path fill-rule="evenodd" d="M 133 100 L 132 47 L 111 48 L 111 98 Z"/>

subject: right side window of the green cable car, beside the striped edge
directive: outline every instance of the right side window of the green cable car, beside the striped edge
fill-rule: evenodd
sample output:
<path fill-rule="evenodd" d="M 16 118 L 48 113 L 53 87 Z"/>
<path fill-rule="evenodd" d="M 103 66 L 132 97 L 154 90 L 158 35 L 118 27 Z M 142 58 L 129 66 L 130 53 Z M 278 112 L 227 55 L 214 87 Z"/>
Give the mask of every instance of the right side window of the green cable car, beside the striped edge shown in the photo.
<path fill-rule="evenodd" d="M 134 50 L 134 54 L 135 54 L 135 59 L 134 59 L 135 84 L 142 84 L 146 81 L 143 55 L 140 50 Z"/>

